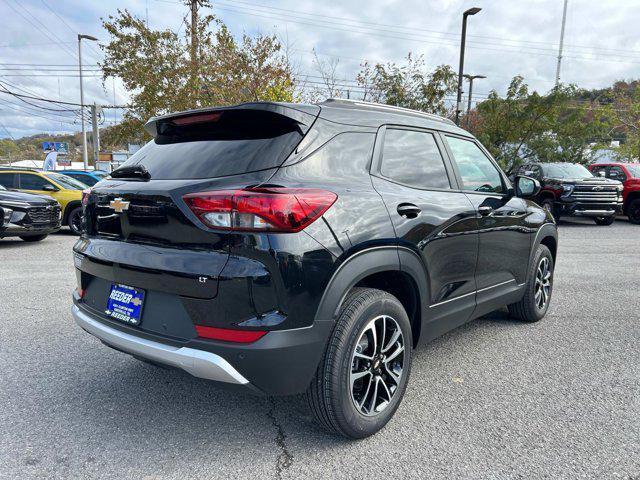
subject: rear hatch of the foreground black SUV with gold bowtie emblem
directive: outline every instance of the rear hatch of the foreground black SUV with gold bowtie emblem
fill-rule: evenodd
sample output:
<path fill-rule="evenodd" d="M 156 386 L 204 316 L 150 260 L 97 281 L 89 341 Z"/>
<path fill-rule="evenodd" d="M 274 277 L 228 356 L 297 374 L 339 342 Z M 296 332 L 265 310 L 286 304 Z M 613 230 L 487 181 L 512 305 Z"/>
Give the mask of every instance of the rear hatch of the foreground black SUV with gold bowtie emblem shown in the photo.
<path fill-rule="evenodd" d="M 86 233 L 74 249 L 85 305 L 104 315 L 113 283 L 144 290 L 145 305 L 155 297 L 174 316 L 182 314 L 180 297 L 214 298 L 238 233 L 204 225 L 183 197 L 266 182 L 316 116 L 248 104 L 150 121 L 154 140 L 86 198 Z M 184 338 L 178 330 L 161 333 Z"/>

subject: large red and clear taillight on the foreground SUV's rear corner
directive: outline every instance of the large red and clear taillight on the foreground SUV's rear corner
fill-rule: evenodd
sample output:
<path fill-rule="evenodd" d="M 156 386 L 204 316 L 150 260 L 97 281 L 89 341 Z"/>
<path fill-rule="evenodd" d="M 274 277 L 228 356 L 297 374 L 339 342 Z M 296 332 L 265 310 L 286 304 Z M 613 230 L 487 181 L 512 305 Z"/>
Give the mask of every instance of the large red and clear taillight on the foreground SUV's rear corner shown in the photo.
<path fill-rule="evenodd" d="M 254 188 L 191 193 L 184 201 L 207 226 L 239 231 L 299 232 L 338 196 L 317 188 Z"/>

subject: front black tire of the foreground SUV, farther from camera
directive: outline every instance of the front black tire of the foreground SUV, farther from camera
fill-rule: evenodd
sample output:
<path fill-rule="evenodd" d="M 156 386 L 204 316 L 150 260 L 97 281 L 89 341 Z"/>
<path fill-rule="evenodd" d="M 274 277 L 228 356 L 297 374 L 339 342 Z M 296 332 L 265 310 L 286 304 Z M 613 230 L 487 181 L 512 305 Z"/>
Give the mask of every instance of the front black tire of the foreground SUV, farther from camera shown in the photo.
<path fill-rule="evenodd" d="M 541 307 L 536 294 L 539 291 L 537 282 L 539 268 L 544 261 L 548 262 L 547 265 L 550 275 L 548 277 L 548 295 L 546 295 L 544 305 Z M 524 296 L 519 302 L 509 305 L 509 313 L 512 317 L 523 322 L 537 322 L 546 315 L 549 309 L 549 303 L 551 302 L 551 294 L 553 293 L 553 269 L 554 262 L 551 251 L 545 245 L 538 245 L 533 261 L 529 266 L 529 272 L 527 273 Z M 542 295 L 544 295 L 544 292 Z"/>

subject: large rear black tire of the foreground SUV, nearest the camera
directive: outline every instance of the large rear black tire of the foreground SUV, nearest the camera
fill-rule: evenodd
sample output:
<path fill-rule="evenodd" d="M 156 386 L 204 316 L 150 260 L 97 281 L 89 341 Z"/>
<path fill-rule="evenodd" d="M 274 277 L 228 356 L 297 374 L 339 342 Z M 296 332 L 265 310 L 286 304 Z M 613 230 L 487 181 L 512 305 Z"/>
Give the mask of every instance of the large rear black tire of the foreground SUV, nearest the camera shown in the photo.
<path fill-rule="evenodd" d="M 384 319 L 381 320 L 383 316 Z M 392 320 L 395 322 L 391 322 Z M 382 323 L 382 328 L 378 330 L 380 322 L 389 323 Z M 368 339 L 372 338 L 368 335 L 372 330 L 372 324 L 374 332 L 385 329 L 385 332 L 391 336 L 379 343 L 383 344 L 389 340 L 391 346 L 386 350 L 386 355 L 393 357 L 393 360 L 385 360 L 385 345 L 382 345 L 380 356 L 378 356 L 375 353 L 377 347 L 374 346 L 378 342 L 368 344 Z M 387 330 L 384 325 L 390 325 L 394 330 Z M 394 335 L 391 332 L 396 331 L 401 332 L 402 336 L 398 337 L 398 341 L 393 342 Z M 370 350 L 361 349 L 364 341 L 367 341 L 365 348 Z M 400 346 L 404 348 L 400 349 Z M 340 309 L 324 356 L 306 392 L 307 403 L 317 422 L 333 433 L 354 439 L 368 437 L 382 429 L 393 417 L 404 396 L 411 372 L 412 346 L 411 324 L 400 301 L 382 290 L 354 288 L 349 292 Z M 392 347 L 394 347 L 393 350 Z M 400 353 L 397 352 L 398 350 Z M 394 352 L 395 355 L 393 355 Z M 371 354 L 373 359 L 371 363 L 357 358 L 364 353 Z M 391 370 L 397 372 L 400 361 L 402 366 L 399 378 L 393 381 L 393 376 L 389 375 L 388 365 L 393 362 L 395 365 L 391 366 Z M 357 367 L 362 371 L 354 372 L 353 370 Z M 350 377 L 353 373 L 356 375 L 364 373 L 365 377 L 356 380 L 352 387 Z M 386 381 L 380 380 L 382 378 L 386 378 Z M 362 394 L 367 381 L 367 389 Z M 389 389 L 386 386 L 389 383 L 395 385 L 395 389 L 393 386 Z M 372 384 L 376 388 L 375 391 L 370 390 Z M 384 388 L 380 390 L 380 397 L 376 395 L 378 385 Z M 363 400 L 359 407 L 356 405 L 354 388 L 355 390 L 359 388 L 358 394 L 362 394 L 360 398 Z M 382 398 L 383 395 L 388 400 Z M 382 401 L 378 405 L 379 398 L 382 398 Z M 373 400 L 367 401 L 367 399 Z M 365 412 L 367 406 L 363 406 L 365 403 L 369 405 L 368 414 Z M 376 412 L 376 407 L 381 411 Z"/>

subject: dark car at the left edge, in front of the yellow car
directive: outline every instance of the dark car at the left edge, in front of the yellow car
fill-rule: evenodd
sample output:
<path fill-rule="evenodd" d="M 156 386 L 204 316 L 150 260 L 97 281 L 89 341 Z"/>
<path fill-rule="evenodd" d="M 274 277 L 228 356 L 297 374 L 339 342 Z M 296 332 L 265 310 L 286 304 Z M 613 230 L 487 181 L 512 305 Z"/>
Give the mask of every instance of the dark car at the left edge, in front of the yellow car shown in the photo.
<path fill-rule="evenodd" d="M 0 185 L 0 238 L 39 242 L 60 229 L 60 205 L 42 195 L 12 192 Z"/>

